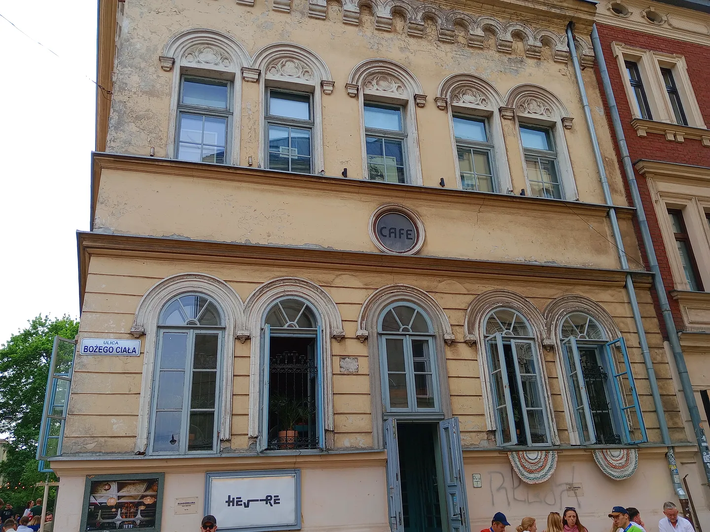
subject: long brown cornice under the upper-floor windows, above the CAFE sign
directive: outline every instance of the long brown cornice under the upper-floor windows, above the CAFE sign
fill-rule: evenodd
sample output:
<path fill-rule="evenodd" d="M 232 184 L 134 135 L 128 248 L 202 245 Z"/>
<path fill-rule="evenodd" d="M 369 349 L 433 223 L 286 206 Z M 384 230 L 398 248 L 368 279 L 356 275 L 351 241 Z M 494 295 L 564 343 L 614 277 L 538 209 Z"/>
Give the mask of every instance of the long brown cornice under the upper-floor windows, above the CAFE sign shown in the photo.
<path fill-rule="evenodd" d="M 385 201 L 393 197 L 400 199 L 417 199 L 441 202 L 445 204 L 459 203 L 479 209 L 482 204 L 503 209 L 539 211 L 541 213 L 569 214 L 570 216 L 591 216 L 604 218 L 609 207 L 603 204 L 582 203 L 559 199 L 535 198 L 532 196 L 517 196 L 515 194 L 493 194 L 488 192 L 470 192 L 459 189 L 442 189 L 439 187 L 424 187 L 414 184 L 396 184 L 369 179 L 351 179 L 345 177 L 322 176 L 318 174 L 293 174 L 264 170 L 262 168 L 239 167 L 226 165 L 210 165 L 201 162 L 186 162 L 156 157 L 141 157 L 138 155 L 115 155 L 94 153 L 92 156 L 92 194 L 91 220 L 89 226 L 93 230 L 94 212 L 96 209 L 99 184 L 102 170 L 121 170 L 126 172 L 142 172 L 146 174 L 169 174 L 182 177 L 202 179 L 223 179 L 225 181 L 266 184 L 269 187 L 289 187 L 295 189 L 312 189 L 327 194 L 329 192 L 350 193 L 357 196 L 377 196 Z M 616 215 L 621 219 L 630 219 L 635 209 L 628 206 L 614 206 Z"/>

